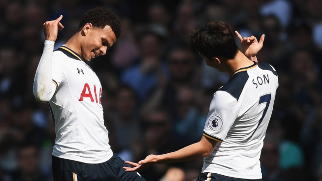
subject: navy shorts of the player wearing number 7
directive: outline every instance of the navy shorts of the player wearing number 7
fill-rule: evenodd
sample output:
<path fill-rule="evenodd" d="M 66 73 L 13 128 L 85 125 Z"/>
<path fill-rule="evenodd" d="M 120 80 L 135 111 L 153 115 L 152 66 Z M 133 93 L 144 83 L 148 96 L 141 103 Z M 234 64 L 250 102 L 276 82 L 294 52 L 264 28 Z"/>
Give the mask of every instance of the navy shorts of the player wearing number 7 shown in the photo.
<path fill-rule="evenodd" d="M 209 175 L 210 174 L 210 175 Z M 262 179 L 239 179 L 234 177 L 228 177 L 216 173 L 201 173 L 198 176 L 197 181 L 262 181 Z"/>

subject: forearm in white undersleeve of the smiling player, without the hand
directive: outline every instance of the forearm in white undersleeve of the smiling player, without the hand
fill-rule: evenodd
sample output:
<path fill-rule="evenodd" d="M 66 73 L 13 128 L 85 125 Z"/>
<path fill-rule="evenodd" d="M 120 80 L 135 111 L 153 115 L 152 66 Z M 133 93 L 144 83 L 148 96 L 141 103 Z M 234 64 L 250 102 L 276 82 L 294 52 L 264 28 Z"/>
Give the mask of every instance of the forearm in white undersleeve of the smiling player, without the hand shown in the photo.
<path fill-rule="evenodd" d="M 54 44 L 55 42 L 53 41 L 45 41 L 35 74 L 33 93 L 40 102 L 48 102 L 56 90 L 52 78 Z"/>

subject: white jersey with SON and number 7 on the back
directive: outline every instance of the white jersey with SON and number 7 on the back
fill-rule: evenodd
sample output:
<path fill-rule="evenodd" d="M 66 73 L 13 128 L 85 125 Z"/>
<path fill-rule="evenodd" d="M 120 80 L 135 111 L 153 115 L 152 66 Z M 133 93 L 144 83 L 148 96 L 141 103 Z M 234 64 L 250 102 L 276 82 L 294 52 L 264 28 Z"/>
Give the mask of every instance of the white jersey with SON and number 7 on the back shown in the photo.
<path fill-rule="evenodd" d="M 260 156 L 277 88 L 275 69 L 254 62 L 215 92 L 203 135 L 220 143 L 204 158 L 202 172 L 262 178 Z"/>

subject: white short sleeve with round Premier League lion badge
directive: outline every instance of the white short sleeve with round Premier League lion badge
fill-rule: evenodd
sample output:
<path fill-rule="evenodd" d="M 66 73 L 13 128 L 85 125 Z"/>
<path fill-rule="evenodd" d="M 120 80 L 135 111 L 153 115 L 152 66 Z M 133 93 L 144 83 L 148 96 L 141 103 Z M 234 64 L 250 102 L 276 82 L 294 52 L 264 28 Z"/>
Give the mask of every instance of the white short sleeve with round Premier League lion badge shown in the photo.
<path fill-rule="evenodd" d="M 210 103 L 209 113 L 203 128 L 203 135 L 222 142 L 234 124 L 240 106 L 226 91 L 217 91 Z"/>

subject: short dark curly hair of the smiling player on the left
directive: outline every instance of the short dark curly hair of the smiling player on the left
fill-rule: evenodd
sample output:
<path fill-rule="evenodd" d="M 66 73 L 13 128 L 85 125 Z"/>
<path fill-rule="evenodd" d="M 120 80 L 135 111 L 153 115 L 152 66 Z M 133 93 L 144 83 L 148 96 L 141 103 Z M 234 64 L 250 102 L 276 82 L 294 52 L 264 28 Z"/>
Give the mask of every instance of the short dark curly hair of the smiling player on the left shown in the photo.
<path fill-rule="evenodd" d="M 109 25 L 117 38 L 121 35 L 120 18 L 106 7 L 98 6 L 86 11 L 80 19 L 79 30 L 81 30 L 86 23 L 92 23 L 93 27 L 97 28 L 104 28 L 106 25 Z"/>

